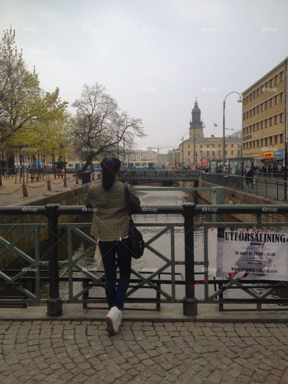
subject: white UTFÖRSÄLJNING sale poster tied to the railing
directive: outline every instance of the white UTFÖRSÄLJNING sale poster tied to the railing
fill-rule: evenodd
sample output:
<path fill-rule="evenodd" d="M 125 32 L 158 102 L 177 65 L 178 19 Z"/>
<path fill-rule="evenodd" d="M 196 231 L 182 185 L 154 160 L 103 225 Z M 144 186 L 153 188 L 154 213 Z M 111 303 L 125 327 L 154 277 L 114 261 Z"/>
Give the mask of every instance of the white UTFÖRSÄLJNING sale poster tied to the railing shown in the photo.
<path fill-rule="evenodd" d="M 209 268 L 220 278 L 288 280 L 287 240 L 282 230 L 211 228 Z"/>

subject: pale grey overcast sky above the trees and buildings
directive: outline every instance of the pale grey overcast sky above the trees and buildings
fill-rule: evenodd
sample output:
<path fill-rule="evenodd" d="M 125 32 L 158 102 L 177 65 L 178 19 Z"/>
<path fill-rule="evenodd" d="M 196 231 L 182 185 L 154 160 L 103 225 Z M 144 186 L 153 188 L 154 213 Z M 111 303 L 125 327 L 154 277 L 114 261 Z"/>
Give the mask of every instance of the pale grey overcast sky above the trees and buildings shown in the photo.
<path fill-rule="evenodd" d="M 142 118 L 140 149 L 178 147 L 196 96 L 205 137 L 222 136 L 225 96 L 288 55 L 286 0 L 1 0 L 1 29 L 10 24 L 42 88 L 72 103 L 83 83 L 102 83 Z M 237 98 L 226 99 L 227 128 L 241 129 Z"/>

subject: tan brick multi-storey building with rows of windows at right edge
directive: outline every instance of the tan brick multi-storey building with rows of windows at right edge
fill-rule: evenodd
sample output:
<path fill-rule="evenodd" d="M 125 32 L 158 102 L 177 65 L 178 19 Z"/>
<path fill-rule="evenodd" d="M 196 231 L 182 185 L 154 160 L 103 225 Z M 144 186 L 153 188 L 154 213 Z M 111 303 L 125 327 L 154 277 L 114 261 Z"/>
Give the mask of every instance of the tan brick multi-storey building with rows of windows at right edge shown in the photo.
<path fill-rule="evenodd" d="M 283 161 L 287 139 L 287 65 L 283 60 L 243 93 L 243 156 Z"/>

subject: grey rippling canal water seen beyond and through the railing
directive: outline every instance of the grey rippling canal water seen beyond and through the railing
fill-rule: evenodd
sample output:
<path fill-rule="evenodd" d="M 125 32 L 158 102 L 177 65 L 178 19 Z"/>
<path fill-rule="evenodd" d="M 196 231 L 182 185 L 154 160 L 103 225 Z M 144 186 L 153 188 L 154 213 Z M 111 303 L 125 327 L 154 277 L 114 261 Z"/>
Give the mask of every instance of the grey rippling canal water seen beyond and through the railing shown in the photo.
<path fill-rule="evenodd" d="M 144 186 L 145 184 L 141 183 L 141 186 Z M 160 183 L 147 183 L 147 186 L 151 187 L 151 190 L 149 191 L 141 191 L 137 192 L 139 195 L 139 198 L 141 200 L 141 205 L 144 207 L 149 207 L 150 205 L 181 205 L 184 203 L 192 203 L 195 202 L 195 204 L 205 204 L 204 201 L 201 201 L 199 197 L 196 195 L 193 195 L 191 192 L 185 192 L 185 191 L 177 191 L 174 189 L 173 184 L 171 183 L 170 187 L 171 189 L 169 191 L 153 191 L 153 188 L 164 186 Z M 165 187 L 167 187 L 167 183 L 165 183 Z M 136 186 L 137 187 L 137 186 Z M 92 217 L 83 217 L 80 218 L 80 222 L 84 223 L 91 223 Z M 229 217 L 222 217 L 224 222 L 229 221 L 235 221 L 232 218 Z M 195 217 L 195 221 L 198 223 L 203 222 L 204 225 L 206 222 L 212 222 L 212 215 L 197 215 Z M 169 223 L 170 225 L 173 225 L 172 228 L 172 234 L 174 234 L 174 253 L 175 253 L 175 260 L 179 262 L 184 262 L 184 217 L 182 215 L 154 215 L 154 214 L 142 214 L 142 215 L 136 215 L 134 217 L 135 223 L 144 223 L 144 226 L 140 227 L 139 229 L 142 232 L 142 235 L 144 237 L 144 241 L 148 241 L 151 239 L 151 237 L 156 236 L 157 233 L 161 232 L 166 226 L 166 223 Z M 153 223 L 157 223 L 159 226 L 153 226 Z M 147 225 L 146 225 L 147 224 Z M 176 226 L 174 226 L 176 224 Z M 76 224 L 77 226 L 77 224 Z M 80 228 L 81 231 L 83 231 L 86 234 L 89 234 L 89 225 L 87 228 Z M 67 251 L 68 251 L 68 242 L 67 242 L 67 233 L 66 231 L 60 232 L 60 241 L 58 243 L 58 255 L 60 261 L 67 261 Z M 158 251 L 163 255 L 164 257 L 170 259 L 171 257 L 171 231 L 168 230 L 166 233 L 162 234 L 161 237 L 159 237 L 157 240 L 151 243 L 151 247 L 154 248 L 154 250 Z M 83 237 L 77 235 L 76 233 L 73 233 L 72 236 L 72 251 L 73 251 L 73 260 L 77 258 L 77 264 L 88 268 L 90 273 L 92 273 L 94 276 L 101 276 L 103 275 L 103 272 L 97 270 L 97 263 L 94 262 L 94 252 L 81 258 L 81 254 L 89 249 L 91 247 L 91 243 L 87 242 L 83 239 Z M 47 252 L 48 252 L 48 244 L 44 244 L 41 247 L 41 260 L 47 261 Z M 202 226 L 196 227 L 194 232 L 194 252 L 195 252 L 195 260 L 196 261 L 203 261 L 204 260 L 204 228 Z M 79 258 L 80 257 L 80 258 Z M 162 260 L 159 256 L 155 255 L 155 253 L 151 252 L 150 250 L 146 249 L 144 252 L 144 255 L 141 259 L 136 260 L 132 258 L 132 269 L 134 271 L 137 271 L 143 276 L 149 276 L 149 274 L 154 273 L 155 271 L 158 271 L 163 265 L 165 264 L 165 261 Z M 199 275 L 197 275 L 197 279 L 203 280 L 204 273 L 202 270 L 203 266 L 195 266 L 195 271 L 200 272 Z M 45 268 L 41 268 L 41 270 L 45 270 Z M 171 269 L 166 268 L 164 270 L 167 274 L 164 275 L 161 273 L 161 280 L 170 280 L 171 279 Z M 181 265 L 175 266 L 175 272 L 176 277 L 175 280 L 184 280 L 185 278 L 185 270 L 184 270 L 184 263 Z M 211 272 L 209 272 L 211 273 Z M 60 274 L 63 276 L 68 277 L 67 272 L 67 266 L 63 266 L 60 268 Z M 44 273 L 43 276 L 48 276 L 47 273 Z M 214 273 L 215 275 L 215 273 Z M 83 278 L 85 275 L 81 272 L 74 272 L 74 277 L 80 277 Z M 199 277 L 198 277 L 199 276 Z M 131 278 L 137 278 L 134 274 L 131 275 Z M 158 276 L 156 276 L 158 278 Z M 211 280 L 213 280 L 213 276 L 210 277 Z M 132 283 L 131 285 L 133 285 Z M 263 284 L 262 284 L 263 285 Z M 218 285 L 217 285 L 218 287 Z M 268 287 L 268 285 L 267 285 Z M 73 296 L 76 295 L 79 291 L 83 289 L 83 285 L 81 282 L 74 282 L 73 283 Z M 162 283 L 161 289 L 166 291 L 169 295 L 171 294 L 171 285 Z M 209 292 L 212 293 L 214 291 L 215 287 L 213 284 L 209 285 Z M 255 290 L 255 293 L 260 294 L 264 293 L 265 289 L 257 289 Z M 68 282 L 60 282 L 60 296 L 64 300 L 68 300 Z M 89 290 L 89 296 L 92 297 L 105 297 L 104 288 L 102 287 L 94 287 Z M 182 298 L 185 296 L 185 286 L 184 285 L 176 285 L 175 288 L 175 298 L 182 300 Z M 195 286 L 195 296 L 197 299 L 204 299 L 204 285 L 196 285 Z M 48 283 L 41 283 L 41 298 L 45 299 L 49 297 L 49 284 Z M 131 297 L 137 297 L 137 298 L 155 298 L 156 297 L 156 291 L 154 289 L 139 289 L 137 290 Z M 248 298 L 251 297 L 247 293 L 245 293 L 243 290 L 237 289 L 237 290 L 228 290 L 223 293 L 223 297 L 234 297 L 234 298 Z M 273 293 L 271 298 L 277 298 L 277 297 L 287 297 L 287 290 L 286 289 L 279 289 L 275 293 Z M 163 296 L 161 296 L 163 298 Z M 247 305 L 237 305 L 238 308 L 245 307 L 247 308 Z M 275 307 L 275 305 L 265 305 L 267 308 Z M 232 306 L 226 305 L 225 308 L 235 308 Z M 255 305 L 253 306 L 255 308 Z"/>

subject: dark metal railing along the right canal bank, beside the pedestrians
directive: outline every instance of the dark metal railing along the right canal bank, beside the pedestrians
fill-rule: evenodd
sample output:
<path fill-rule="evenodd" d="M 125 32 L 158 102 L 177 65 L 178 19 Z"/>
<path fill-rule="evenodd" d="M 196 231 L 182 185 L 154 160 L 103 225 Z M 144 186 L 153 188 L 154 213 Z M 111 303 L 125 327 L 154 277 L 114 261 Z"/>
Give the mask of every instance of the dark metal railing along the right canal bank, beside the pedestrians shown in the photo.
<path fill-rule="evenodd" d="M 209 184 L 217 184 L 229 189 L 251 192 L 268 199 L 287 202 L 288 182 L 257 177 L 221 175 L 201 172 L 201 179 Z"/>

